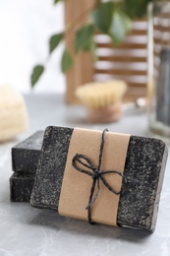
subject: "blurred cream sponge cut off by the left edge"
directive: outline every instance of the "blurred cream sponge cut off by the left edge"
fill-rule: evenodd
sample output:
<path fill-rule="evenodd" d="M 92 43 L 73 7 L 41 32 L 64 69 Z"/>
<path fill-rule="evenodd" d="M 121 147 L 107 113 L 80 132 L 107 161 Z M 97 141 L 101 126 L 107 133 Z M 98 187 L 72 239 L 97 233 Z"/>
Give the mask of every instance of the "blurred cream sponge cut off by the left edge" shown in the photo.
<path fill-rule="evenodd" d="M 23 96 L 11 86 L 0 86 L 0 142 L 12 139 L 28 127 Z"/>

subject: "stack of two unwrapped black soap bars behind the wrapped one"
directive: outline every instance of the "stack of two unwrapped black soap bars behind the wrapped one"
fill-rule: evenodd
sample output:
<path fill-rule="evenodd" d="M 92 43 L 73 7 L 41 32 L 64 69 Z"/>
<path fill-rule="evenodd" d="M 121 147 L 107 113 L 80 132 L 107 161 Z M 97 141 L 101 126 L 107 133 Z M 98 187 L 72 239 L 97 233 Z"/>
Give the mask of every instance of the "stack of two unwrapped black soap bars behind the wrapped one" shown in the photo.
<path fill-rule="evenodd" d="M 41 154 L 43 133 L 43 131 L 37 131 L 12 148 L 14 173 L 10 178 L 10 198 L 13 202 L 29 202 Z"/>

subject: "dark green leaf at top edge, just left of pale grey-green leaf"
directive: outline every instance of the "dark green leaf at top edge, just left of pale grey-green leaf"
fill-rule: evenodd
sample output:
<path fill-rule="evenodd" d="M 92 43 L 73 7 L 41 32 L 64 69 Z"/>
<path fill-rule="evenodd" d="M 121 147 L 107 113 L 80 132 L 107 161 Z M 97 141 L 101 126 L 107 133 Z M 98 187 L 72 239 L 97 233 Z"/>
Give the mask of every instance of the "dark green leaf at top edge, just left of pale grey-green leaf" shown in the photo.
<path fill-rule="evenodd" d="M 100 3 L 91 13 L 94 26 L 104 33 L 108 33 L 112 21 L 114 5 L 113 2 Z"/>

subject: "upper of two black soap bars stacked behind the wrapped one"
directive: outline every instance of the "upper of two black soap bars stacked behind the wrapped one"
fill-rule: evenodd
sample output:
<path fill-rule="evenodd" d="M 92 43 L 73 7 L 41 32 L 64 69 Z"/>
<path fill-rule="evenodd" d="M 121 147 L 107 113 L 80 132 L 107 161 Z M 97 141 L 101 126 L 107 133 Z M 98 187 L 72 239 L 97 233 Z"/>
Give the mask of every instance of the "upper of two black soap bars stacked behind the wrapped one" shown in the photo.
<path fill-rule="evenodd" d="M 27 140 L 12 148 L 12 169 L 16 172 L 35 173 L 41 154 L 43 131 L 37 131 Z"/>

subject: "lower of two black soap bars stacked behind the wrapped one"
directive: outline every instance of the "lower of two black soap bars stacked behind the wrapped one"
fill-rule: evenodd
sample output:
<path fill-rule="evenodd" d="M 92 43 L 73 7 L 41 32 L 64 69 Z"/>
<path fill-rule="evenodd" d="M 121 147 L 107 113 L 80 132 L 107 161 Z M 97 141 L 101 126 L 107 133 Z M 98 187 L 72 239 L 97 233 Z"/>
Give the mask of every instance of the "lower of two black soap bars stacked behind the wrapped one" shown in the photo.
<path fill-rule="evenodd" d="M 15 172 L 10 178 L 10 199 L 12 202 L 29 202 L 34 183 L 34 174 Z"/>

